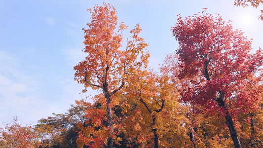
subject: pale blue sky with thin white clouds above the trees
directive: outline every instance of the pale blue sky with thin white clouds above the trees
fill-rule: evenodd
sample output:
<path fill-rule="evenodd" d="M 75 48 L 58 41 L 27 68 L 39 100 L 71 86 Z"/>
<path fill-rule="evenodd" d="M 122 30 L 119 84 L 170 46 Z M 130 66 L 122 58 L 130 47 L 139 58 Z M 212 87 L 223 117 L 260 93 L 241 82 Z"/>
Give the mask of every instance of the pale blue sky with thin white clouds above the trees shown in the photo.
<path fill-rule="evenodd" d="M 234 0 L 105 0 L 119 21 L 132 29 L 139 23 L 150 44 L 150 66 L 158 70 L 178 43 L 171 27 L 177 15 L 193 15 L 208 8 L 233 21 L 253 48 L 263 47 L 259 8 L 233 6 Z M 73 67 L 84 59 L 82 28 L 90 21 L 87 8 L 103 0 L 0 0 L 0 122 L 18 116 L 23 124 L 37 124 L 52 112 L 63 113 L 75 100 L 92 95 L 74 81 Z M 128 33 L 128 32 L 126 32 Z M 1 123 L 0 123 L 1 125 Z"/>

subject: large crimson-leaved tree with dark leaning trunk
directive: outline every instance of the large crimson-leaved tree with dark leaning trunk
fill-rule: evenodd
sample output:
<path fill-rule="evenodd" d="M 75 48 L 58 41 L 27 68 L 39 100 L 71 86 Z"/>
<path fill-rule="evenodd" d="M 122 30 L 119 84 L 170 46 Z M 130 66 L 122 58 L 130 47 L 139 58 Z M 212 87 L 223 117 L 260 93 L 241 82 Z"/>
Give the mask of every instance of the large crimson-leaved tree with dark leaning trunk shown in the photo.
<path fill-rule="evenodd" d="M 172 31 L 179 42 L 180 73 L 175 75 L 185 81 L 182 100 L 200 106 L 203 113 L 224 115 L 234 147 L 241 148 L 233 117 L 259 109 L 262 51 L 249 53 L 251 40 L 219 14 L 179 15 Z"/>

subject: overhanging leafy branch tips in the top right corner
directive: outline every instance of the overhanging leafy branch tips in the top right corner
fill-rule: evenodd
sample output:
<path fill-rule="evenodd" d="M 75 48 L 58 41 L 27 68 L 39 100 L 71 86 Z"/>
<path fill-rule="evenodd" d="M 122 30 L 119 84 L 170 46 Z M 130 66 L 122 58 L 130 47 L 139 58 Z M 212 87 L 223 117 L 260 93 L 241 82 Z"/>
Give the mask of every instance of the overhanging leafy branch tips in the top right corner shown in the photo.
<path fill-rule="evenodd" d="M 263 4 L 263 0 L 235 0 L 234 5 L 236 6 L 242 6 L 242 7 L 247 7 L 250 3 L 251 6 L 253 7 L 258 7 L 260 4 Z M 259 19 L 263 20 L 263 10 L 261 11 L 261 15 L 259 16 Z"/>

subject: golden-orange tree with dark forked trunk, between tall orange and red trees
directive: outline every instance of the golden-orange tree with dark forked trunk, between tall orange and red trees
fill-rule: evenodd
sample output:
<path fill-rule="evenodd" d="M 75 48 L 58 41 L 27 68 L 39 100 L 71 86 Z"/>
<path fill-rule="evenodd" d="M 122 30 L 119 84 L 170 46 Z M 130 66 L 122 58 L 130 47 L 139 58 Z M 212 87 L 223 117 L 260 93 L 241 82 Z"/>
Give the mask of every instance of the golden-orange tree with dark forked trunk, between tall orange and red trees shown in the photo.
<path fill-rule="evenodd" d="M 141 106 L 140 108 L 142 108 L 132 109 L 133 111 L 130 112 L 131 115 L 127 118 L 127 127 L 131 128 L 130 132 L 137 131 L 130 134 L 135 134 L 137 142 L 141 142 L 144 147 L 152 147 L 150 144 L 153 144 L 154 148 L 158 148 L 160 135 L 158 133 L 159 126 L 157 119 L 163 111 L 166 98 L 160 96 L 163 94 L 161 94 L 160 87 L 158 87 L 158 77 L 156 77 L 156 74 L 143 73 L 141 72 L 140 75 L 132 77 L 133 82 L 129 85 L 129 90 L 127 90 L 128 100 L 133 100 L 132 104 L 136 104 L 137 107 Z M 129 125 L 133 126 L 130 127 Z M 147 131 L 150 131 L 150 133 Z M 148 138 L 153 140 L 147 140 Z M 147 145 L 144 144 L 145 142 L 147 142 Z"/>

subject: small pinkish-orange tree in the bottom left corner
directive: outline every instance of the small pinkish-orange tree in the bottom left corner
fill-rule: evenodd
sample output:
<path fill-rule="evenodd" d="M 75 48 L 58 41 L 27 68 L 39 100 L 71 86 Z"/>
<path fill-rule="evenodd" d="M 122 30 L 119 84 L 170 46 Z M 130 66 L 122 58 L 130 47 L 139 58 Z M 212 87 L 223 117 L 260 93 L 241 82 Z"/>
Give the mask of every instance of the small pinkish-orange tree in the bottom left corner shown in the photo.
<path fill-rule="evenodd" d="M 5 128 L 0 128 L 1 148 L 38 148 L 40 143 L 38 135 L 31 126 L 22 127 L 14 117 L 11 123 L 6 123 Z"/>

